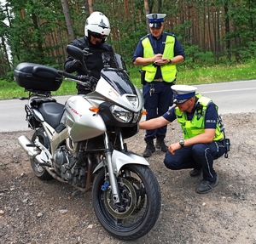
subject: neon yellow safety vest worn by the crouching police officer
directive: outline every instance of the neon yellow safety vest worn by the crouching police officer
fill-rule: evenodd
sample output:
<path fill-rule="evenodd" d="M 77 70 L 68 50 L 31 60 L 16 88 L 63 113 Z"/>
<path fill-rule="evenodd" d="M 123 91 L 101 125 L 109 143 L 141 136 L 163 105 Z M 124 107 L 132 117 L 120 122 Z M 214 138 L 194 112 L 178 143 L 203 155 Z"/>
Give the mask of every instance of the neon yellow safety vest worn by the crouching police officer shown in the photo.
<path fill-rule="evenodd" d="M 200 103 L 202 105 L 201 116 L 198 115 L 198 113 L 195 111 L 195 114 L 193 115 L 192 120 L 188 121 L 186 117 L 186 113 L 183 111 L 179 111 L 177 107 L 175 108 L 177 122 L 181 124 L 184 139 L 193 138 L 200 133 L 204 133 L 205 131 L 205 115 L 207 111 L 207 105 L 212 100 L 202 96 L 201 94 L 196 94 L 195 96 L 198 98 L 197 104 Z M 216 109 L 218 111 L 217 105 L 216 105 Z M 217 123 L 213 140 L 217 141 L 223 138 L 224 138 L 224 134 L 220 131 L 220 128 Z"/>

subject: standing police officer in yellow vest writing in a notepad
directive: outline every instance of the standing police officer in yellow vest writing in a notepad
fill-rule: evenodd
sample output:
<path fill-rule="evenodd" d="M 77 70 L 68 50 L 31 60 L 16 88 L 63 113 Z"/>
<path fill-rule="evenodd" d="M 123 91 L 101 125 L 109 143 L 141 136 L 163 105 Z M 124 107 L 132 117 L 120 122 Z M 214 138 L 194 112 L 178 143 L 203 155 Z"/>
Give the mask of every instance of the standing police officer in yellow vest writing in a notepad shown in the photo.
<path fill-rule="evenodd" d="M 142 37 L 133 55 L 133 64 L 142 66 L 144 108 L 146 120 L 162 116 L 172 106 L 172 89 L 175 84 L 176 64 L 183 62 L 185 54 L 177 37 L 164 32 L 166 14 L 147 14 L 150 34 Z M 166 152 L 166 126 L 146 130 L 144 157 L 151 156 L 156 147 Z"/>

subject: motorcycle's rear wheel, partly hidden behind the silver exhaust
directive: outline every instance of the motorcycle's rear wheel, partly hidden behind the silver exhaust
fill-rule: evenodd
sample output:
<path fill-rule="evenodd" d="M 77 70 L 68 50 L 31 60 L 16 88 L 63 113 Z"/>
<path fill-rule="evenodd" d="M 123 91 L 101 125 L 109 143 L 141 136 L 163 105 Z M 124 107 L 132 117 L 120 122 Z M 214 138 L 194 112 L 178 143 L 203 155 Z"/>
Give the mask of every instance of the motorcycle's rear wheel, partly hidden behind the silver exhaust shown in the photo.
<path fill-rule="evenodd" d="M 33 135 L 32 135 L 32 142 L 38 137 L 40 143 L 44 145 L 48 150 L 50 149 L 49 139 L 44 134 L 44 128 L 39 128 Z M 46 169 L 35 162 L 35 160 L 30 160 L 31 167 L 33 173 L 39 178 L 44 180 L 53 179 L 52 176 L 46 171 Z"/>

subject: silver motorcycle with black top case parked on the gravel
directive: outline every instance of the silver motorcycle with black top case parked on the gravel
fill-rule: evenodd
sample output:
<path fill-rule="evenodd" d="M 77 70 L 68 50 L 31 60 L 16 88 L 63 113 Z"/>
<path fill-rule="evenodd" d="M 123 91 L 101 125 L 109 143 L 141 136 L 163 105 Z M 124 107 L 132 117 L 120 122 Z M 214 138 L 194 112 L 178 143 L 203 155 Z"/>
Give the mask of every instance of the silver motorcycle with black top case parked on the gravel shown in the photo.
<path fill-rule="evenodd" d="M 34 131 L 32 139 L 21 135 L 19 144 L 38 179 L 91 190 L 102 227 L 120 240 L 136 240 L 152 230 L 161 205 L 160 186 L 148 162 L 125 143 L 138 132 L 143 96 L 131 83 L 121 56 L 104 53 L 94 90 L 71 96 L 65 105 L 58 103 L 51 92 L 64 78 L 85 88 L 94 83 L 83 52 L 68 45 L 67 54 L 83 65 L 86 76 L 33 63 L 16 66 L 15 81 L 28 92 L 20 98 L 28 100 L 26 122 Z"/>

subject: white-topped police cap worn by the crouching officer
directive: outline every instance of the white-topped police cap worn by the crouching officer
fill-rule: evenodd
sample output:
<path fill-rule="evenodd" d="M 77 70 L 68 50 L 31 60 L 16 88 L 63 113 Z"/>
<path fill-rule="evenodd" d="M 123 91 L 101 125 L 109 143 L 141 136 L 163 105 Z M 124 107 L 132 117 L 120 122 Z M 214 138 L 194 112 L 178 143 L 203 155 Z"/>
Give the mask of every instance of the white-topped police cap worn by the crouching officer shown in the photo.
<path fill-rule="evenodd" d="M 174 85 L 171 87 L 173 92 L 173 103 L 183 104 L 188 99 L 195 96 L 197 88 L 187 85 Z"/>

